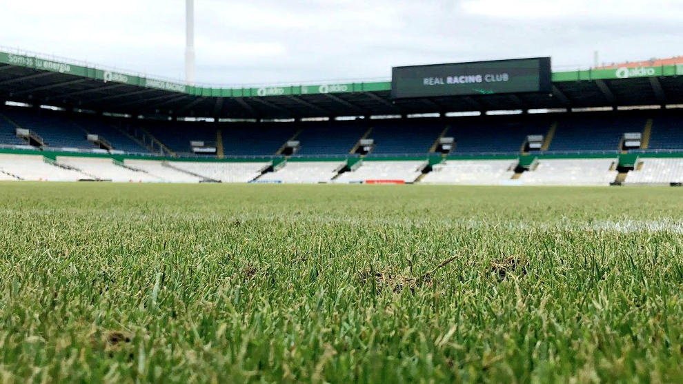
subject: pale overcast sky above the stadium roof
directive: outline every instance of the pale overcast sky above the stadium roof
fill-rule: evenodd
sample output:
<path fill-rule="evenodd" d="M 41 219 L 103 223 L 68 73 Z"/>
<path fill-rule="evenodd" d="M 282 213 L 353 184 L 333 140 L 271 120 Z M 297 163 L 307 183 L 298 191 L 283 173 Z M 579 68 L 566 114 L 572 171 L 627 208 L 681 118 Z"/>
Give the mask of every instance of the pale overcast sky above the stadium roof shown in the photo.
<path fill-rule="evenodd" d="M 0 0 L 0 46 L 184 78 L 184 0 Z M 390 77 L 393 65 L 683 55 L 683 0 L 195 0 L 197 81 Z"/>

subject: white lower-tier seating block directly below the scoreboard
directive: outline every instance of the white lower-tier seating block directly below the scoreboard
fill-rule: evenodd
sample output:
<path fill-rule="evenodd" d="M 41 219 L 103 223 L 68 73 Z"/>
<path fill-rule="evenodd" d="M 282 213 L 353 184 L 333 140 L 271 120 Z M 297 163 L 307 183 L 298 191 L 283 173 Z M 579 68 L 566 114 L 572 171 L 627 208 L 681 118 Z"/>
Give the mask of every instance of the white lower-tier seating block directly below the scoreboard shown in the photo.
<path fill-rule="evenodd" d="M 422 183 L 498 185 L 512 179 L 517 160 L 448 160 L 433 165 Z"/>

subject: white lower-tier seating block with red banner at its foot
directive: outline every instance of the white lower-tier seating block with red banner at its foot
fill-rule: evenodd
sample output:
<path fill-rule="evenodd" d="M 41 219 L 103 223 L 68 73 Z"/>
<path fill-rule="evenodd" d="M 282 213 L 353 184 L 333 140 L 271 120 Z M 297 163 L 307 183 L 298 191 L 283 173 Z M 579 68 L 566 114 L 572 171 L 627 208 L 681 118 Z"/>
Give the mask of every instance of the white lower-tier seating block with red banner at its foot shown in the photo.
<path fill-rule="evenodd" d="M 335 183 L 413 183 L 427 161 L 363 161 L 353 171 L 344 172 Z"/>

